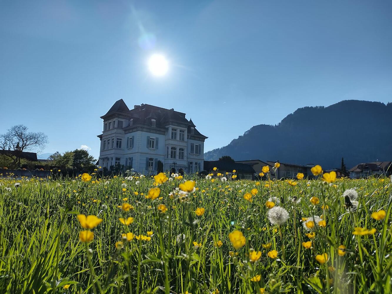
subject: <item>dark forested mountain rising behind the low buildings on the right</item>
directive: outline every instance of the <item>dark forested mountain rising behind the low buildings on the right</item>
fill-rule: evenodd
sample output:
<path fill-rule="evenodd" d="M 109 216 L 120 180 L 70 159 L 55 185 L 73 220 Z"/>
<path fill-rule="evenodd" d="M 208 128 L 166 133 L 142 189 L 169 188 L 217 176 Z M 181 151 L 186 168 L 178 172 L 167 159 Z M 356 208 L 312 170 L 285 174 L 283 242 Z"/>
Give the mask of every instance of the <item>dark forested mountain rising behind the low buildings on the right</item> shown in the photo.
<path fill-rule="evenodd" d="M 278 125 L 256 125 L 205 160 L 279 160 L 349 169 L 362 162 L 392 160 L 392 103 L 345 100 L 328 107 L 303 107 Z"/>

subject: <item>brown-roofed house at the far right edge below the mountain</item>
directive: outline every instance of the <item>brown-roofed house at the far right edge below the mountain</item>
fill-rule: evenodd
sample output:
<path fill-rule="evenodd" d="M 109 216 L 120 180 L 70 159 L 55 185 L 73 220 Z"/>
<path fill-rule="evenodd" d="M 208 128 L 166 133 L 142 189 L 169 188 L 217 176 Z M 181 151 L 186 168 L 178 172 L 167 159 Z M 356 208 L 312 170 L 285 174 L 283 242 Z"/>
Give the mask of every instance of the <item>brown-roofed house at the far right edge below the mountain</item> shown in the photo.
<path fill-rule="evenodd" d="M 390 161 L 359 163 L 348 171 L 352 179 L 381 175 L 390 176 L 392 174 L 391 165 L 392 162 Z"/>

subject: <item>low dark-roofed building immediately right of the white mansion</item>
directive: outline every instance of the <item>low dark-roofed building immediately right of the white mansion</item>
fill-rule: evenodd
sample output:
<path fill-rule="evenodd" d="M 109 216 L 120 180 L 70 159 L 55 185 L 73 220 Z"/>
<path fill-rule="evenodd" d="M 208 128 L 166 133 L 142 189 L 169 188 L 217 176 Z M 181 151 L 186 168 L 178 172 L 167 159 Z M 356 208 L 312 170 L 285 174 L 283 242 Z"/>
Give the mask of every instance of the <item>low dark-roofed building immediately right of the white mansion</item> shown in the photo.
<path fill-rule="evenodd" d="M 217 168 L 217 171 L 214 171 L 214 167 Z M 220 172 L 221 174 L 224 174 L 228 180 L 232 176 L 233 170 L 236 171 L 237 180 L 241 180 L 241 179 L 253 180 L 254 173 L 255 173 L 253 167 L 249 164 L 227 162 L 223 160 L 205 161 L 204 169 L 205 171 L 214 175 Z M 227 175 L 226 172 L 228 172 Z"/>

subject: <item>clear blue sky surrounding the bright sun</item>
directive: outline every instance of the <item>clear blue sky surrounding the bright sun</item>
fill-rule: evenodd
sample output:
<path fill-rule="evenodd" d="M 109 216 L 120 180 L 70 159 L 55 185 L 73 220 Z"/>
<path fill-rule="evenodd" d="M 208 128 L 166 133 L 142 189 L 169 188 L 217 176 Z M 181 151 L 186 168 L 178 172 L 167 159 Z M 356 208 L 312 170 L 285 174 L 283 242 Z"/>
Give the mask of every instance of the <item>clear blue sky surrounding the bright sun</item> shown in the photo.
<path fill-rule="evenodd" d="M 186 113 L 209 151 L 299 107 L 392 102 L 391 28 L 390 1 L 0 0 L 0 134 L 24 124 L 43 152 L 97 158 L 122 98 Z"/>

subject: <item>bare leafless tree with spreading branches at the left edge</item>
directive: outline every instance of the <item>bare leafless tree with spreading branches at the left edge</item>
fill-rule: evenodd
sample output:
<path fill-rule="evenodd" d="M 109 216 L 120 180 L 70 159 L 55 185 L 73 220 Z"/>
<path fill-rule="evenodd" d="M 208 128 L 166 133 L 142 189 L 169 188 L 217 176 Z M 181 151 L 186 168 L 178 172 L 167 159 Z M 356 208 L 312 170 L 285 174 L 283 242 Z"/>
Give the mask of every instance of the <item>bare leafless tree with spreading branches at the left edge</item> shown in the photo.
<path fill-rule="evenodd" d="M 3 153 L 13 158 L 18 166 L 22 152 L 43 149 L 48 143 L 48 137 L 43 132 L 27 132 L 27 129 L 25 125 L 14 125 L 0 135 L 0 148 L 14 151 Z"/>

